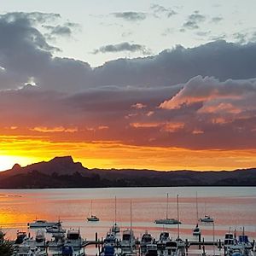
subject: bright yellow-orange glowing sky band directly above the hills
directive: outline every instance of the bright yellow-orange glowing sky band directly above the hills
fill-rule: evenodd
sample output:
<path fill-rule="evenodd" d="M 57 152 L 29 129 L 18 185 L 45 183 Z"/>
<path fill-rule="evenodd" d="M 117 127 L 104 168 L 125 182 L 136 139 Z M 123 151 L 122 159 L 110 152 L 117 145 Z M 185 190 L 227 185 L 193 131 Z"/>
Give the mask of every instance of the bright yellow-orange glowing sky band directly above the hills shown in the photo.
<path fill-rule="evenodd" d="M 64 155 L 72 155 L 74 161 L 88 168 L 219 171 L 256 166 L 256 150 L 191 150 L 117 142 L 54 143 L 31 137 L 5 137 L 0 140 L 0 148 L 1 171 L 15 163 L 26 166 Z"/>

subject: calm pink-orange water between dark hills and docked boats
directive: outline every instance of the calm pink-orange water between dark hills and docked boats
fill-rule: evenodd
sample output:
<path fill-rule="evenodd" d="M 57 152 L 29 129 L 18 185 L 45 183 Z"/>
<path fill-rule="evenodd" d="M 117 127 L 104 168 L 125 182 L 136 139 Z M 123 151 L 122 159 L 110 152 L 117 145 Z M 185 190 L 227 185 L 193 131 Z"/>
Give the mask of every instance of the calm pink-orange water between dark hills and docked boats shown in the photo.
<path fill-rule="evenodd" d="M 105 236 L 114 221 L 114 196 L 117 197 L 117 221 L 121 228 L 130 226 L 132 201 L 132 226 L 137 237 L 148 230 L 155 237 L 160 231 L 169 230 L 177 236 L 177 226 L 163 227 L 154 219 L 166 217 L 166 193 L 169 193 L 169 218 L 179 216 L 183 224 L 183 238 L 193 239 L 191 230 L 196 223 L 195 193 L 198 194 L 199 217 L 205 213 L 215 219 L 214 232 L 223 238 L 229 229 L 245 227 L 253 240 L 256 238 L 256 189 L 255 188 L 125 188 L 125 189 L 0 189 L 0 227 L 14 238 L 16 230 L 26 231 L 26 224 L 35 218 L 57 220 L 64 228 L 79 228 L 88 240 Z M 90 214 L 101 220 L 86 222 Z M 202 236 L 212 237 L 212 224 L 201 224 Z M 33 231 L 31 231 L 33 232 Z"/>

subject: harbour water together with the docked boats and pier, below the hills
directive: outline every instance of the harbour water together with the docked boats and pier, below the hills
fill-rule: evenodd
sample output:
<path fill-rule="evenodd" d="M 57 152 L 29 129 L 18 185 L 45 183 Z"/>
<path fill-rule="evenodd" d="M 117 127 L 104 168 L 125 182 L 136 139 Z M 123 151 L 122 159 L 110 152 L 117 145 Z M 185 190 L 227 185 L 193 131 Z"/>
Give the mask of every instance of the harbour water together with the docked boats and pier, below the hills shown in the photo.
<path fill-rule="evenodd" d="M 170 216 L 182 224 L 154 222 L 166 213 L 167 193 Z M 36 241 L 40 252 L 35 255 L 231 255 L 242 251 L 241 244 L 246 247 L 243 241 L 251 242 L 248 255 L 255 249 L 253 188 L 15 189 L 0 194 L 6 238 L 15 241 L 19 233 L 20 240 L 27 238 L 24 247 L 29 243 L 32 250 Z M 92 200 L 96 222 L 86 219 Z M 206 200 L 214 221 L 198 221 L 195 235 L 195 216 L 204 215 Z M 42 220 L 44 227 L 33 227 Z M 230 240 L 227 233 L 233 234 Z M 228 250 L 227 244 L 236 246 Z"/>

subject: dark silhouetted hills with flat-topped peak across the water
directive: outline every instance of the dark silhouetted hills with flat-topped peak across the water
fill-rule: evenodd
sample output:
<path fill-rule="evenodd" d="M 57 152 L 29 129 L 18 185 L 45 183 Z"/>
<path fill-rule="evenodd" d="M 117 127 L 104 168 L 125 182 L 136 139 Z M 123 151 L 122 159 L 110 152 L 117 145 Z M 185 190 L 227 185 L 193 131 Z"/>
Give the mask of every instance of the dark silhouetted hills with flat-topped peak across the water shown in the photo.
<path fill-rule="evenodd" d="M 88 169 L 71 156 L 0 172 L 0 189 L 104 187 L 255 186 L 256 168 L 234 171 Z"/>

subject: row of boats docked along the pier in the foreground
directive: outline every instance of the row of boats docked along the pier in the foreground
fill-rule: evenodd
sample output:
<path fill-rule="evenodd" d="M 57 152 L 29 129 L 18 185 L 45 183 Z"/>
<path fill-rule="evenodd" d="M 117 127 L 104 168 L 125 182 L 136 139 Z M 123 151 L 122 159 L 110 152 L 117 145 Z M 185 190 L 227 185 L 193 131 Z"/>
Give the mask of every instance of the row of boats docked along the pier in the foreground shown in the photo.
<path fill-rule="evenodd" d="M 110 229 L 111 230 L 111 229 Z M 14 256 L 84 256 L 86 247 L 95 246 L 97 253 L 95 255 L 155 255 L 155 256 L 184 256 L 192 255 L 197 252 L 197 255 L 224 255 L 224 256 L 253 256 L 255 254 L 255 241 L 250 241 L 243 229 L 241 234 L 228 232 L 224 236 L 224 240 L 201 241 L 201 235 L 198 236 L 198 241 L 183 240 L 181 237 L 173 239 L 169 232 L 161 232 L 159 239 L 154 238 L 146 231 L 143 236 L 136 238 L 132 230 L 122 230 L 122 235 L 109 231 L 105 239 L 94 241 L 86 240 L 80 236 L 79 230 L 67 230 L 67 236 L 61 234 L 61 241 L 53 244 L 53 241 L 47 241 L 45 238 L 45 230 L 37 229 L 36 237 L 33 239 L 30 233 L 17 231 L 17 237 L 14 241 L 15 253 Z M 214 236 L 214 234 L 213 234 Z M 56 237 L 53 233 L 53 237 Z M 195 249 L 197 247 L 197 249 Z M 211 249 L 212 254 L 208 249 Z"/>

